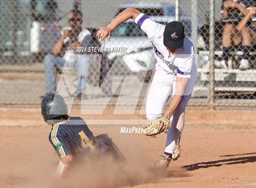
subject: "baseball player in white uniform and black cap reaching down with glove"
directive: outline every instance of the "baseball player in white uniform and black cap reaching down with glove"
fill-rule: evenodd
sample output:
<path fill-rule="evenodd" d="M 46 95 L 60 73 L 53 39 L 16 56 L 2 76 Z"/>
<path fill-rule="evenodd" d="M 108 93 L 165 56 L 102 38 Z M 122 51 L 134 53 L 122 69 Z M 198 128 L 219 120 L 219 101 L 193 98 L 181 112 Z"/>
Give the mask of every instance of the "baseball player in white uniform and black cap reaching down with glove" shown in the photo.
<path fill-rule="evenodd" d="M 180 153 L 177 146 L 184 126 L 185 107 L 193 92 L 197 74 L 194 46 L 185 37 L 182 23 L 158 24 L 135 8 L 126 8 L 119 13 L 107 27 L 99 30 L 98 38 L 103 40 L 107 37 L 110 40 L 113 30 L 130 18 L 148 35 L 157 59 L 146 101 L 146 116 L 149 121 L 160 117 L 171 119 L 165 150 L 155 163 L 155 167 L 166 168 L 171 159 L 177 159 Z M 172 95 L 172 100 L 164 112 L 169 95 Z"/>

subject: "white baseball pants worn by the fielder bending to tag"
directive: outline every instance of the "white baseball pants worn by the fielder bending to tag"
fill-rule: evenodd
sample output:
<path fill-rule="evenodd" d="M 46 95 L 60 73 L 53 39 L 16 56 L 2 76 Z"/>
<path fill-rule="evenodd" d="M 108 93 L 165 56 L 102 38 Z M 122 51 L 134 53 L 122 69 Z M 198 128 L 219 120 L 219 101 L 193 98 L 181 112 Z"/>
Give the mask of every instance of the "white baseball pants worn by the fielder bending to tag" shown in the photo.
<path fill-rule="evenodd" d="M 165 152 L 167 153 L 173 153 L 177 143 L 179 142 L 184 126 L 185 107 L 190 99 L 191 93 L 193 92 L 193 87 L 196 82 L 196 73 L 197 70 L 195 67 L 188 81 L 185 95 L 171 117 L 171 128 L 167 132 L 165 147 Z M 149 121 L 154 121 L 155 119 L 163 116 L 166 101 L 168 101 L 171 93 L 174 95 L 175 85 L 176 75 L 168 74 L 164 70 L 160 69 L 155 71 L 146 101 L 146 116 Z"/>

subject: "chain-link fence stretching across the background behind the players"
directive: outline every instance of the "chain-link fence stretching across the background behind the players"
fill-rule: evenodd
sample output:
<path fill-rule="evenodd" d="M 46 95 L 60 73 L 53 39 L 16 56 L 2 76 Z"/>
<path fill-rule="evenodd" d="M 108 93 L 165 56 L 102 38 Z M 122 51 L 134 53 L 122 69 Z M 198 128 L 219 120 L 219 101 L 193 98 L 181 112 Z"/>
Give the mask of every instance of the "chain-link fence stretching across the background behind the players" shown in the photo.
<path fill-rule="evenodd" d="M 82 98 L 87 105 L 144 106 L 155 69 L 146 34 L 129 20 L 110 42 L 96 38 L 100 27 L 134 7 L 162 24 L 179 19 L 185 25 L 198 66 L 189 106 L 255 108 L 255 6 L 254 0 L 2 0 L 0 104 L 38 105 L 46 92 L 57 91 L 75 104 Z M 88 47 L 94 52 L 87 54 Z"/>

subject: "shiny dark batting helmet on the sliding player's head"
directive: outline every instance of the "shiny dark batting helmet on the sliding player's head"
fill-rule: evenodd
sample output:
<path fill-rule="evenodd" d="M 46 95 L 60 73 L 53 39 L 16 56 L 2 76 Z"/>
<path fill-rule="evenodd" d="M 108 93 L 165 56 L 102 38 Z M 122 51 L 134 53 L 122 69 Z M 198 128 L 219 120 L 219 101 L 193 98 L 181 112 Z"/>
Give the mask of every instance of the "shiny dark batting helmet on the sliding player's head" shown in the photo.
<path fill-rule="evenodd" d="M 68 115 L 68 106 L 59 94 L 47 93 L 41 100 L 41 114 L 46 123 L 52 124 L 49 119 Z"/>

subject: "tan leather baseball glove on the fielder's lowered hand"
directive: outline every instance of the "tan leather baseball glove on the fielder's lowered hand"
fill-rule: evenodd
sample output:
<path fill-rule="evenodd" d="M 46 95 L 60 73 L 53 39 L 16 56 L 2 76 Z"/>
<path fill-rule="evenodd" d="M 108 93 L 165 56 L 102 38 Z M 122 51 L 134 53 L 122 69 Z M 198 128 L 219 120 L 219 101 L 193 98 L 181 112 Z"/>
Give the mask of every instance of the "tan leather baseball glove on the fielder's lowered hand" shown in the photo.
<path fill-rule="evenodd" d="M 161 124 L 161 122 L 163 124 Z M 169 119 L 165 117 L 160 117 L 155 119 L 155 121 L 151 121 L 149 124 L 143 126 L 144 135 L 146 136 L 155 136 L 162 132 L 165 132 L 171 127 L 171 123 Z"/>

